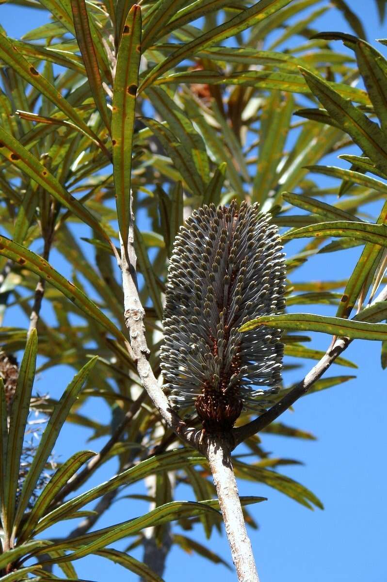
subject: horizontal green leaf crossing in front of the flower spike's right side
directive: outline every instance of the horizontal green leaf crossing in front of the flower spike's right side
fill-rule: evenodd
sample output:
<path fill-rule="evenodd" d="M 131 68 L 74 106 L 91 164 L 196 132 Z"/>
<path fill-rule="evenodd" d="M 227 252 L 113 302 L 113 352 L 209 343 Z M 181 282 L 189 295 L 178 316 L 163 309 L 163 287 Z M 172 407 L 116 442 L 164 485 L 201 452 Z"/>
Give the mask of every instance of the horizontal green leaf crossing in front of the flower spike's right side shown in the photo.
<path fill-rule="evenodd" d="M 250 331 L 260 325 L 276 329 L 296 329 L 297 331 L 318 331 L 340 338 L 385 340 L 387 324 L 368 324 L 362 321 L 345 320 L 340 317 L 326 317 L 311 313 L 287 313 L 263 315 L 248 321 L 239 331 Z"/>

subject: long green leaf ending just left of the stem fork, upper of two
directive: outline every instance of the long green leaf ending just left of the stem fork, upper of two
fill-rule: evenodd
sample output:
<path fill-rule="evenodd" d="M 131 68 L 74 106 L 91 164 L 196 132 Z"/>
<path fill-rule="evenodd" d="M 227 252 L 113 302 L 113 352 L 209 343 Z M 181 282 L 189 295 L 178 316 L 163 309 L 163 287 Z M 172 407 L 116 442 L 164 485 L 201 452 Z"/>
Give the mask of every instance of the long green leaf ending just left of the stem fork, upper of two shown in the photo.
<path fill-rule="evenodd" d="M 156 473 L 157 471 L 172 471 L 181 468 L 185 463 L 203 464 L 204 462 L 204 457 L 193 456 L 191 450 L 185 449 L 176 449 L 168 451 L 162 455 L 151 457 L 150 459 L 137 464 L 135 467 L 116 475 L 116 477 L 113 477 L 110 481 L 102 483 L 102 485 L 98 485 L 97 487 L 90 489 L 90 491 L 86 491 L 83 494 L 70 499 L 66 503 L 63 503 L 60 507 L 54 509 L 40 521 L 36 531 L 44 530 L 52 523 L 55 523 L 59 519 L 63 519 L 63 517 L 68 513 L 73 513 L 101 495 L 105 495 L 109 491 L 113 491 L 117 487 L 120 487 L 120 485 L 128 485 L 134 481 L 142 479 L 145 475 Z"/>

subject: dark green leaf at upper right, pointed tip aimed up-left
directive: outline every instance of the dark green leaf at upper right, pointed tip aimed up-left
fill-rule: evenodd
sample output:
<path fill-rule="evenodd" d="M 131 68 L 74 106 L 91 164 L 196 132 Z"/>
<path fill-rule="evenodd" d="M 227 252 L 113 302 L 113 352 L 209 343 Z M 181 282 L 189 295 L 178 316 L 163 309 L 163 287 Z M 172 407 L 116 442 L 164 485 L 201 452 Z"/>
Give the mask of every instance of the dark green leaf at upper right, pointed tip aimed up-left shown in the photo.
<path fill-rule="evenodd" d="M 341 97 L 326 81 L 300 68 L 312 93 L 321 101 L 343 131 L 375 162 L 383 172 L 387 172 L 387 148 L 379 126 L 367 118 L 352 103 Z"/>

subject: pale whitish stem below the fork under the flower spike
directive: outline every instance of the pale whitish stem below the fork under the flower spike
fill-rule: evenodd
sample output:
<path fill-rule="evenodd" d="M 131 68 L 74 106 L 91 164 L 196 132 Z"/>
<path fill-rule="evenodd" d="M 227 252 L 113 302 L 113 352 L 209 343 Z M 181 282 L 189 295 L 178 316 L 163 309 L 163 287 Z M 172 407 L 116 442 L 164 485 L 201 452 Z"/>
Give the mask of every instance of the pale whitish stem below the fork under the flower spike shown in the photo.
<path fill-rule="evenodd" d="M 239 582 L 260 582 L 238 494 L 228 439 L 208 439 L 207 460 L 218 494 L 226 534 Z"/>

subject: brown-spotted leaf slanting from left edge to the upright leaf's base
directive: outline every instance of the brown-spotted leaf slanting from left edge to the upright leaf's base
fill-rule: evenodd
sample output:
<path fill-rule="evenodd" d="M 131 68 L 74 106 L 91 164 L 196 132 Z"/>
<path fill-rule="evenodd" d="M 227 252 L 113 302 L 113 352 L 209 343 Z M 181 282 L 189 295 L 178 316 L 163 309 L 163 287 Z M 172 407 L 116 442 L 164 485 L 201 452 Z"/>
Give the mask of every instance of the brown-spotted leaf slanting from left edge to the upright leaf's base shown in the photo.
<path fill-rule="evenodd" d="M 35 180 L 49 194 L 54 196 L 56 200 L 72 211 L 82 222 L 97 230 L 105 240 L 110 241 L 100 222 L 93 217 L 87 208 L 69 194 L 58 182 L 58 179 L 33 154 L 26 150 L 22 144 L 16 141 L 9 133 L 6 133 L 2 127 L 0 127 L 0 154 L 7 158 L 11 164 L 20 168 L 27 176 Z"/>

